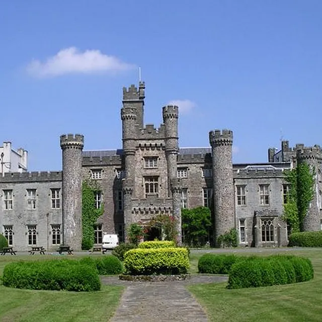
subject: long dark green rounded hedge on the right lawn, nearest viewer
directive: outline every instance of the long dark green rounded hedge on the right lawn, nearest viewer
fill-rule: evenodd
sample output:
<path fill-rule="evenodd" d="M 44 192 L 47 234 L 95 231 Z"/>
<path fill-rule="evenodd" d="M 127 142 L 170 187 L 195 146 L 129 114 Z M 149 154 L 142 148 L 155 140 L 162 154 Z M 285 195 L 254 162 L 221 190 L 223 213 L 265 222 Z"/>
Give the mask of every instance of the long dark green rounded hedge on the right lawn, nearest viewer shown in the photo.
<path fill-rule="evenodd" d="M 309 281 L 311 262 L 297 256 L 252 257 L 231 266 L 227 288 L 260 287 Z"/>

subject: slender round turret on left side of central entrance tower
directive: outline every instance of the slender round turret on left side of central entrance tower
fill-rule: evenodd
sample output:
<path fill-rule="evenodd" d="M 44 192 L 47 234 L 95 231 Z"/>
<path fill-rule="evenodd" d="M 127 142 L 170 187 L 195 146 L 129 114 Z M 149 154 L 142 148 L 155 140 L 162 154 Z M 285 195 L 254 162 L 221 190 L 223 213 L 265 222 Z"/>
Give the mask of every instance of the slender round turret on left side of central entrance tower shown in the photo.
<path fill-rule="evenodd" d="M 127 178 L 134 179 L 135 170 L 135 133 L 136 133 L 136 108 L 123 107 L 121 109 L 122 141 L 125 162 L 125 174 Z"/>

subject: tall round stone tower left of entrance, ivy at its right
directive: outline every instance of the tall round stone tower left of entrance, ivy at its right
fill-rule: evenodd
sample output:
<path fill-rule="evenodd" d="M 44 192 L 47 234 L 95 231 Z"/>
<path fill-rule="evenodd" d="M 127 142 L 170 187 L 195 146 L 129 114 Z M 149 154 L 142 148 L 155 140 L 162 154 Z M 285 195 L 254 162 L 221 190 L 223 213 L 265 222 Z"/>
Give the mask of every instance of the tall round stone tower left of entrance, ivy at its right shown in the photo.
<path fill-rule="evenodd" d="M 82 249 L 82 150 L 84 136 L 60 136 L 62 149 L 62 228 L 63 244 Z"/>

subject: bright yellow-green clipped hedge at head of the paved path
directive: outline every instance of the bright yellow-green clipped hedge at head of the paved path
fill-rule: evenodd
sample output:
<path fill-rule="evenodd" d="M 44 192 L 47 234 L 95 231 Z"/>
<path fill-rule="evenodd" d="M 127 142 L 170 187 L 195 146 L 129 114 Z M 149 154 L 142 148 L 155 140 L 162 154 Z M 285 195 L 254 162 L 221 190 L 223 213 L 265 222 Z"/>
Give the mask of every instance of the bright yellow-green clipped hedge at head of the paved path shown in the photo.
<path fill-rule="evenodd" d="M 189 269 L 188 251 L 185 248 L 138 248 L 125 253 L 124 267 L 131 275 L 185 274 Z"/>

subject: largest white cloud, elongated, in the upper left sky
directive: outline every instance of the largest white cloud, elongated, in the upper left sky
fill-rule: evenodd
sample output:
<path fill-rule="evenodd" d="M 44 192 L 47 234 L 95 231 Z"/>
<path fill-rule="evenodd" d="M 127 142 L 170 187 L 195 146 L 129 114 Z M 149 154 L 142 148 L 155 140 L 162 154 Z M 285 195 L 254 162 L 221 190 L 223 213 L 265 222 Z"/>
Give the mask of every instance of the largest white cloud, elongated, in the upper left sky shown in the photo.
<path fill-rule="evenodd" d="M 103 54 L 100 50 L 79 51 L 75 47 L 61 49 L 54 56 L 42 62 L 34 59 L 27 71 L 36 77 L 53 77 L 68 73 L 94 73 L 128 70 L 134 65 L 125 63 L 114 56 Z"/>

